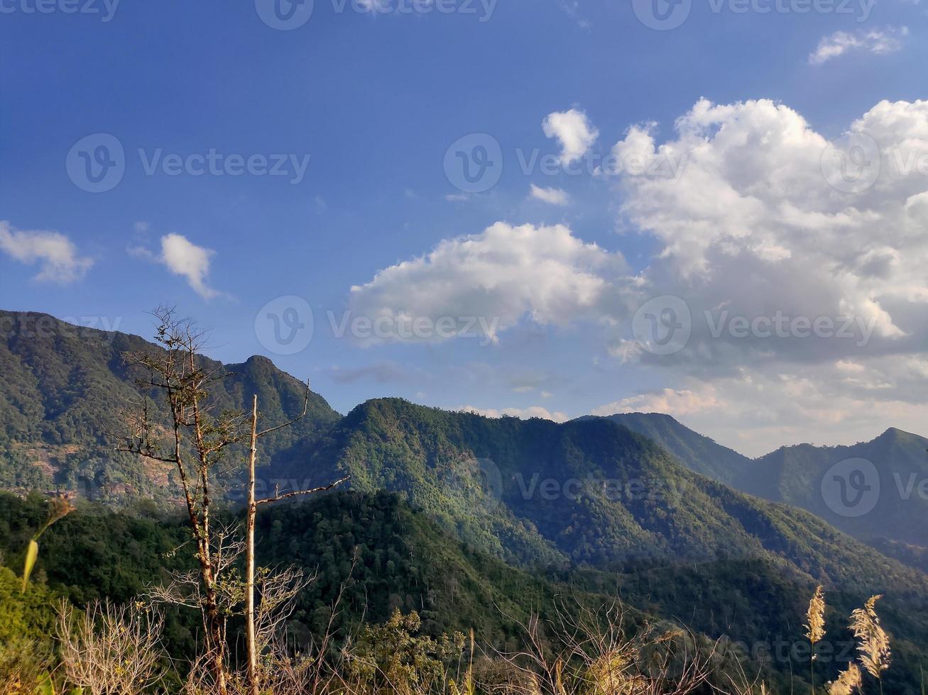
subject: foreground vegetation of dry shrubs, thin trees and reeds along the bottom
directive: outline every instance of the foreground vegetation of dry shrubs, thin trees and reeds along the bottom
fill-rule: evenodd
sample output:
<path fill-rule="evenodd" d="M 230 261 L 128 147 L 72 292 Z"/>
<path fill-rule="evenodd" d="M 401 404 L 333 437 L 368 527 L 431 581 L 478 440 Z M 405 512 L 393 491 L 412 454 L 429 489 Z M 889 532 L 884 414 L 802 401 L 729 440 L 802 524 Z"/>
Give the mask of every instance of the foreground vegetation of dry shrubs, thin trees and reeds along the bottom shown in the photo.
<path fill-rule="evenodd" d="M 256 510 L 264 502 L 312 494 L 322 488 L 282 494 L 276 490 L 270 498 L 254 497 L 258 438 L 279 427 L 258 429 L 257 396 L 250 419 L 239 411 L 216 414 L 210 391 L 225 375 L 200 360 L 201 334 L 191 323 L 174 320 L 169 310 L 157 315 L 161 351 L 143 349 L 127 356 L 136 371 L 141 372 L 136 378 L 142 399 L 129 421 L 132 431 L 122 450 L 174 470 L 184 493 L 187 523 L 175 524 L 168 537 L 155 539 L 163 546 L 160 553 L 145 557 L 143 551 L 133 558 L 148 562 L 152 571 L 152 576 L 136 586 L 135 591 L 126 590 L 129 582 L 119 573 L 131 575 L 136 568 L 131 561 L 122 562 L 124 558 L 117 555 L 111 558 L 109 566 L 97 568 L 102 570 L 97 575 L 98 588 L 102 588 L 97 597 L 74 600 L 69 588 L 65 593 L 71 600 L 57 600 L 54 592 L 44 589 L 33 593 L 32 587 L 41 586 L 42 582 L 30 581 L 33 572 L 41 574 L 41 568 L 36 570 L 38 536 L 71 511 L 70 505 L 60 501 L 51 505 L 47 518 L 35 524 L 38 530 L 32 532 L 26 545 L 20 565 L 21 579 L 6 571 L 0 576 L 9 585 L 0 596 L 2 611 L 10 618 L 6 622 L 12 625 L 7 627 L 9 634 L 0 654 L 0 674 L 6 690 L 217 695 L 239 692 L 618 695 L 781 690 L 764 677 L 762 669 L 754 673 L 756 663 L 741 662 L 737 650 L 730 650 L 721 642 L 712 643 L 700 632 L 649 621 L 645 614 L 626 611 L 620 602 L 606 599 L 602 591 L 552 597 L 550 586 L 523 577 L 522 582 L 534 589 L 535 595 L 544 597 L 539 602 L 544 605 L 522 600 L 518 590 L 499 592 L 500 598 L 509 598 L 510 606 L 483 597 L 484 613 L 489 609 L 487 603 L 492 602 L 493 609 L 503 615 L 500 623 L 506 627 L 502 640 L 478 637 L 472 629 L 465 636 L 462 630 L 427 625 L 419 608 L 410 605 L 408 595 L 405 599 L 396 596 L 395 600 L 391 595 L 385 602 L 370 601 L 367 596 L 357 600 L 349 595 L 349 582 L 366 550 L 363 544 L 354 542 L 349 544 L 353 554 L 348 567 L 342 566 L 346 562 L 343 554 L 341 558 L 335 554 L 325 556 L 317 563 L 327 573 L 337 570 L 341 583 L 334 600 L 321 606 L 324 611 L 318 613 L 318 602 L 310 604 L 316 613 L 313 616 L 316 628 L 300 638 L 292 629 L 291 618 L 303 608 L 301 599 L 312 590 L 317 577 L 307 575 L 306 566 L 292 563 L 255 566 L 255 527 L 260 523 Z M 163 398 L 162 411 L 169 414 L 166 428 L 150 418 L 153 392 Z M 307 389 L 304 415 L 308 402 Z M 615 433 L 612 429 L 610 432 Z M 249 502 L 242 534 L 235 516 L 224 512 L 211 490 L 215 491 L 217 476 L 228 470 L 226 452 L 245 442 L 250 442 L 251 460 Z M 632 444 L 635 445 L 632 449 L 636 449 L 640 443 Z M 627 452 L 629 460 L 637 459 L 633 453 L 631 449 Z M 654 461 L 658 461 L 658 454 L 654 456 L 657 457 Z M 416 469 L 414 463 L 410 461 L 410 470 Z M 382 471 L 382 466 L 378 470 Z M 670 473 L 673 471 L 668 468 Z M 677 516 L 680 513 L 677 509 Z M 317 521 L 322 520 L 314 518 L 310 525 L 321 525 Z M 280 516 L 272 517 L 269 535 L 289 538 L 288 550 L 293 550 L 296 535 L 281 534 L 277 528 L 281 522 Z M 531 531 L 530 527 L 523 528 Z M 616 528 L 613 536 L 619 540 L 623 534 Z M 602 537 L 600 542 L 608 539 Z M 440 547 L 441 542 L 432 544 L 436 546 Z M 375 557 L 377 552 L 374 550 Z M 71 567 L 71 572 L 64 575 L 67 582 L 77 580 L 82 571 L 93 571 L 88 558 L 81 561 L 82 567 Z M 385 562 L 382 557 L 375 560 L 378 568 L 391 576 L 401 572 L 397 564 L 405 562 L 406 558 L 400 555 L 388 557 Z M 433 564 L 441 566 L 441 562 L 439 558 Z M 483 558 L 482 562 L 490 561 Z M 467 559 L 462 562 L 466 563 Z M 364 567 L 367 566 L 364 562 Z M 406 569 L 415 568 L 406 565 Z M 470 574 L 470 583 L 477 585 L 470 587 L 473 600 L 480 590 L 481 579 L 477 575 L 483 576 L 485 584 L 486 573 Z M 517 575 L 518 571 L 509 568 L 509 572 L 498 574 L 505 577 Z M 119 584 L 121 579 L 121 592 L 110 590 L 114 587 L 103 588 L 107 583 Z M 19 592 L 14 588 L 17 585 Z M 331 579 L 329 585 L 333 585 Z M 365 590 L 368 587 L 367 583 L 361 586 Z M 452 582 L 446 587 L 445 596 L 430 595 L 432 613 L 461 613 L 453 605 L 458 599 L 458 588 L 457 582 Z M 568 595 L 570 600 L 564 598 Z M 32 598 L 27 600 L 27 596 Z M 420 608 L 425 613 L 424 596 L 421 593 L 419 596 Z M 863 608 L 852 613 L 851 629 L 857 639 L 858 661 L 863 671 L 848 661 L 846 668 L 827 686 L 832 695 L 870 687 L 883 691 L 891 652 L 888 635 L 876 613 L 879 598 L 871 597 Z M 341 616 L 346 599 L 353 600 L 355 615 L 359 607 L 362 611 L 389 614 L 381 615 L 380 619 L 371 615 L 344 622 Z M 441 606 L 445 600 L 450 600 L 452 606 Z M 508 608 L 517 611 L 506 613 Z M 806 625 L 813 693 L 817 670 L 821 670 L 817 669 L 816 660 L 825 636 L 825 610 L 824 595 L 819 590 L 809 605 Z M 466 617 L 458 617 L 458 622 L 466 623 Z M 177 650 L 178 642 L 184 638 L 186 649 Z M 865 683 L 865 677 L 870 681 Z"/>

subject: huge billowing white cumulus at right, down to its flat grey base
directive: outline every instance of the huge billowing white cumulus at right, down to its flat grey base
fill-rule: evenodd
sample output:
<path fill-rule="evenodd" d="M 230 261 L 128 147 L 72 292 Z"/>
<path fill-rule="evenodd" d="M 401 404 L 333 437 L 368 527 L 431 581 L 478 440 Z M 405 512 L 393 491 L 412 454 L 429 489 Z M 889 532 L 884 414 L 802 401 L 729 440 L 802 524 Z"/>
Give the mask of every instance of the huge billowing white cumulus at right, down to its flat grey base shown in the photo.
<path fill-rule="evenodd" d="M 831 168 L 853 169 L 853 153 L 789 107 L 701 100 L 676 130 L 662 145 L 633 131 L 616 150 L 687 161 L 677 178 L 620 175 L 627 221 L 662 246 L 640 276 L 642 298 L 681 297 L 690 310 L 693 335 L 678 361 L 730 366 L 925 349 L 928 102 L 883 102 L 851 125 L 852 135 L 873 143 L 869 165 L 879 170 L 856 193 L 829 178 Z M 771 339 L 730 330 L 733 317 L 752 322 L 778 312 L 850 319 L 854 335 Z M 621 341 L 614 349 L 636 353 Z"/>

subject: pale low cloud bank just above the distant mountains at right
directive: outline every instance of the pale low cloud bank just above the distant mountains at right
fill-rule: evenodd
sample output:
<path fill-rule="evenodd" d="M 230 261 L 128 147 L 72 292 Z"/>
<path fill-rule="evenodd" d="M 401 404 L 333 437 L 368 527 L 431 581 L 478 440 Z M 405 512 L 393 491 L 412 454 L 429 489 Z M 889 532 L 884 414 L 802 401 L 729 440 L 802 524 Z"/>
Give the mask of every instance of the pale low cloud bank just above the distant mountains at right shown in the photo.
<path fill-rule="evenodd" d="M 748 456 L 804 442 L 850 444 L 889 426 L 928 435 L 928 372 L 919 373 L 912 360 L 871 360 L 853 373 L 841 365 L 793 364 L 677 382 L 682 387 L 621 399 L 593 414 L 664 412 Z"/>

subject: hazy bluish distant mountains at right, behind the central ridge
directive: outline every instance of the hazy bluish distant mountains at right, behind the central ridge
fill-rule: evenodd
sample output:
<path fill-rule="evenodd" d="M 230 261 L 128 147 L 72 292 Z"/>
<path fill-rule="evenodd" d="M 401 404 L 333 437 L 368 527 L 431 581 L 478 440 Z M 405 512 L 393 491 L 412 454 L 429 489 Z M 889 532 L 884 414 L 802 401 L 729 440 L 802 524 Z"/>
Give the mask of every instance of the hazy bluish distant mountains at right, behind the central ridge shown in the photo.
<path fill-rule="evenodd" d="M 925 437 L 891 428 L 869 442 L 843 447 L 801 444 L 753 460 L 669 415 L 629 413 L 608 419 L 650 436 L 692 471 L 758 497 L 802 507 L 886 554 L 928 567 Z"/>

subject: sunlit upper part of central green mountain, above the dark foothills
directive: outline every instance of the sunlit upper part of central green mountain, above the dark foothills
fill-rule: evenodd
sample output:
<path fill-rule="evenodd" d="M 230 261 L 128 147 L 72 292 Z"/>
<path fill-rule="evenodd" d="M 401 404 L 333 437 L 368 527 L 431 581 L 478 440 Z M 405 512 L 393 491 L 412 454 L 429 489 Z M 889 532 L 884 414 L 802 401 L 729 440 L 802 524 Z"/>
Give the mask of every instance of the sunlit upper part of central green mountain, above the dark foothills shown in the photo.
<path fill-rule="evenodd" d="M 509 561 L 602 567 L 768 557 L 861 591 L 925 581 L 815 516 L 694 474 L 603 419 L 488 419 L 384 398 L 290 458 L 306 461 L 309 480 L 351 474 L 354 489 L 399 493 Z"/>

